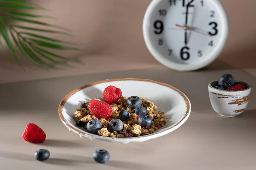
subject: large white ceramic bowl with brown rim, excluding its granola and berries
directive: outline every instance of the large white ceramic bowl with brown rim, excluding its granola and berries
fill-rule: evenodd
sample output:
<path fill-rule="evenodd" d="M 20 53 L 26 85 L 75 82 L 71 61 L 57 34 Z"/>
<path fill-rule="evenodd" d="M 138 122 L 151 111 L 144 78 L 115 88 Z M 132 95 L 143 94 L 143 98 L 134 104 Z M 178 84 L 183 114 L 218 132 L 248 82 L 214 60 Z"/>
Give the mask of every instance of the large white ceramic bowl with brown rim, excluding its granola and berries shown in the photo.
<path fill-rule="evenodd" d="M 151 100 L 157 106 L 157 111 L 164 111 L 164 115 L 168 118 L 167 124 L 156 130 L 155 133 L 131 137 L 131 138 L 112 138 L 99 136 L 97 134 L 88 133 L 82 127 L 77 127 L 73 119 L 76 109 L 81 107 L 84 100 L 90 101 L 94 98 L 102 99 L 104 89 L 114 85 L 122 90 L 122 96 L 139 96 Z M 69 130 L 77 133 L 80 137 L 85 136 L 91 140 L 102 140 L 108 142 L 143 142 L 148 139 L 154 139 L 163 136 L 177 129 L 189 117 L 191 112 L 191 104 L 189 99 L 178 89 L 162 82 L 156 82 L 148 79 L 108 79 L 100 82 L 93 82 L 71 91 L 62 99 L 58 113 L 61 121 Z"/>

